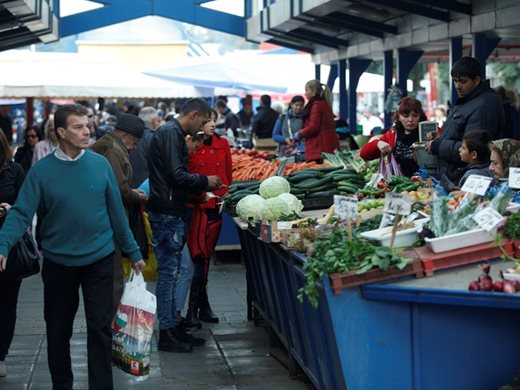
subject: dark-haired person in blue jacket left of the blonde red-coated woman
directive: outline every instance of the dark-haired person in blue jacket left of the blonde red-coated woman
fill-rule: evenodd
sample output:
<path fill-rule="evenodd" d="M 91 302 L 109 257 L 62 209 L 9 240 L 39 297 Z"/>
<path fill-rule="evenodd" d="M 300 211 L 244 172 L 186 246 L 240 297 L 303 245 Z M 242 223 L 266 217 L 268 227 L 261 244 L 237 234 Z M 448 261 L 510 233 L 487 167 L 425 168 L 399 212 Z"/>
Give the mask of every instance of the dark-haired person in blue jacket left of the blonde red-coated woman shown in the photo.
<path fill-rule="evenodd" d="M 294 140 L 294 134 L 302 128 L 302 110 L 305 99 L 295 95 L 289 102 L 286 114 L 280 115 L 273 130 L 273 140 L 278 142 L 278 155 L 286 156 L 296 151 L 303 151 L 303 143 Z"/>

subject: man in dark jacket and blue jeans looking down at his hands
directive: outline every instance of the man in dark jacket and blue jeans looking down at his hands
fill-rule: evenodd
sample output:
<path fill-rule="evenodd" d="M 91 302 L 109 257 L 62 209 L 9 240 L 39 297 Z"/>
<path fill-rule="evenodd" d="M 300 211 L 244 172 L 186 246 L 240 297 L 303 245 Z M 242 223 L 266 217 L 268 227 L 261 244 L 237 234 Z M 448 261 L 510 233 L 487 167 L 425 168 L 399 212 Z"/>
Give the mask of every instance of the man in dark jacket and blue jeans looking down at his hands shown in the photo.
<path fill-rule="evenodd" d="M 220 189 L 216 175 L 188 172 L 186 135 L 194 136 L 210 119 L 210 108 L 203 99 L 190 99 L 177 118 L 156 130 L 149 149 L 150 198 L 148 217 L 157 256 L 158 349 L 191 352 L 193 336 L 186 334 L 176 319 L 175 290 L 186 241 L 186 202 L 192 193 Z M 189 336 L 189 337 L 188 337 Z"/>

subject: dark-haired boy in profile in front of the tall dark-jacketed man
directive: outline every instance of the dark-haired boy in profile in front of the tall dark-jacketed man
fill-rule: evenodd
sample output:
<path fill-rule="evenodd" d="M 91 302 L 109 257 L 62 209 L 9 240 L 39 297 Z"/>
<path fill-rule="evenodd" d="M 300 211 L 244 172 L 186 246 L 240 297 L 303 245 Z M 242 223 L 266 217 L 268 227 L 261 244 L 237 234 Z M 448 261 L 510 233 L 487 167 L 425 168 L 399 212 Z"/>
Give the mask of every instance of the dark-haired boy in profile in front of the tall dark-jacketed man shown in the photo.
<path fill-rule="evenodd" d="M 490 141 L 489 133 L 485 130 L 472 130 L 462 137 L 459 155 L 460 159 L 467 165 L 461 173 L 459 188 L 462 188 L 471 175 L 493 177 L 493 172 L 489 169 Z"/>

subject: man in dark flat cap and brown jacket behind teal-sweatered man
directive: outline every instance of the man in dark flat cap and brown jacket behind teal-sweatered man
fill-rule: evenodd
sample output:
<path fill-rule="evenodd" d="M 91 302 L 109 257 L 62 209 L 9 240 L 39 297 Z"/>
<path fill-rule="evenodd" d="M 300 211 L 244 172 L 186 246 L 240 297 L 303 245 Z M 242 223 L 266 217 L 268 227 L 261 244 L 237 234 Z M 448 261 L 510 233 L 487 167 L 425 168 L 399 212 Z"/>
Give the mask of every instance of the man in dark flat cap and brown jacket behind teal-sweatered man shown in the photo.
<path fill-rule="evenodd" d="M 104 156 L 112 166 L 127 215 L 130 209 L 139 207 L 147 199 L 144 191 L 130 187 L 132 166 L 128 158 L 128 152 L 137 147 L 143 133 L 144 122 L 141 118 L 132 114 L 121 114 L 114 130 L 103 135 L 90 147 L 94 152 Z M 114 256 L 114 314 L 123 295 L 123 288 L 122 256 L 117 248 Z"/>

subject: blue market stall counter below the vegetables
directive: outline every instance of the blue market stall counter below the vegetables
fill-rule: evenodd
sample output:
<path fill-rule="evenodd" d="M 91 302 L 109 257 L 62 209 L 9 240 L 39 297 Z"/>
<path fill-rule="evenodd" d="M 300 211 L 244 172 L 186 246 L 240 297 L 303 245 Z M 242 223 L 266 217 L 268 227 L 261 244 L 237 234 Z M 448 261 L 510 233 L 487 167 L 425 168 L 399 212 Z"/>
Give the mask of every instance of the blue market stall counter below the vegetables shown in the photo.
<path fill-rule="evenodd" d="M 305 255 L 237 230 L 254 306 L 318 389 L 488 390 L 518 373 L 520 295 L 467 291 L 477 265 L 339 294 L 325 276 L 315 309 L 297 299 Z"/>

